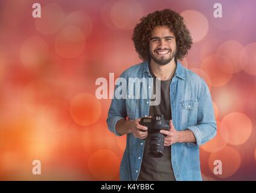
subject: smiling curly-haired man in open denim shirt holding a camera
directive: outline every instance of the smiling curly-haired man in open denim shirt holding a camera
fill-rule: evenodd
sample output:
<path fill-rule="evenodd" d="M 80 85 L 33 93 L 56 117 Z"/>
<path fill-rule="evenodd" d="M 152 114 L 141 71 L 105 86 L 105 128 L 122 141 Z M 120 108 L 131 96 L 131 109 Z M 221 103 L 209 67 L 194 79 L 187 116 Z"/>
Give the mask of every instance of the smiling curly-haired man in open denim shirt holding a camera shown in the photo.
<path fill-rule="evenodd" d="M 114 97 L 110 105 L 109 130 L 127 136 L 120 180 L 202 180 L 199 145 L 216 135 L 216 120 L 205 81 L 177 62 L 192 45 L 184 20 L 172 10 L 155 11 L 142 17 L 132 39 L 144 62 L 124 71 L 121 78 L 146 79 L 149 96 L 133 98 L 132 89 L 127 89 L 127 98 Z M 150 86 L 152 78 L 153 83 L 161 80 L 159 104 L 150 101 L 158 90 L 156 84 Z M 149 132 L 139 124 L 142 117 L 156 114 L 170 120 L 169 130 L 160 130 L 165 134 L 162 157 L 149 156 Z"/>

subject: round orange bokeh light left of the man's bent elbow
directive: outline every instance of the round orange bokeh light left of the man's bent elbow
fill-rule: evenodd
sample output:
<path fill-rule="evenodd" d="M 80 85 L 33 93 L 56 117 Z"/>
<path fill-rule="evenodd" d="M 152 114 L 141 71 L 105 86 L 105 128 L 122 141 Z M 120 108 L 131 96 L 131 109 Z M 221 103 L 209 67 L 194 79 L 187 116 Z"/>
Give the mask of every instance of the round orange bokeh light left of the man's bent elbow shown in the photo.
<path fill-rule="evenodd" d="M 92 125 L 100 118 L 100 101 L 90 93 L 80 93 L 72 98 L 70 113 L 77 124 L 82 126 Z"/>

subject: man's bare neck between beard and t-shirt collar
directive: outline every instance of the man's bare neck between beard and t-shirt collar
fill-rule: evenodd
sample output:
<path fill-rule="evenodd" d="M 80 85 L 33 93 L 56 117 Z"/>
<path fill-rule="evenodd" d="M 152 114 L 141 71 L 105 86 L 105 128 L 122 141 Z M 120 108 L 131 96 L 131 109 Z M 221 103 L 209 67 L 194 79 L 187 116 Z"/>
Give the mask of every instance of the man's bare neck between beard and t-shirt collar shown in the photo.
<path fill-rule="evenodd" d="M 157 63 L 155 63 L 155 61 L 150 60 L 149 65 L 151 71 L 157 78 L 161 78 L 161 80 L 168 80 L 170 78 L 170 75 L 173 74 L 176 63 L 173 59 L 167 65 L 158 65 Z"/>

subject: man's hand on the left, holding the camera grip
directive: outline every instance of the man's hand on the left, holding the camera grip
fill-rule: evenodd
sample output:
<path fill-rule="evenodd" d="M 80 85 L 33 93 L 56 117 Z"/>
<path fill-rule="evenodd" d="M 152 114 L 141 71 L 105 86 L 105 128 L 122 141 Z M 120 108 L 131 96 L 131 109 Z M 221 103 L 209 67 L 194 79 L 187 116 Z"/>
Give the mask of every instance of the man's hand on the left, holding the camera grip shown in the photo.
<path fill-rule="evenodd" d="M 129 130 L 132 132 L 135 138 L 146 139 L 148 135 L 147 127 L 140 125 L 140 120 L 141 118 L 135 119 L 134 121 L 130 121 Z"/>

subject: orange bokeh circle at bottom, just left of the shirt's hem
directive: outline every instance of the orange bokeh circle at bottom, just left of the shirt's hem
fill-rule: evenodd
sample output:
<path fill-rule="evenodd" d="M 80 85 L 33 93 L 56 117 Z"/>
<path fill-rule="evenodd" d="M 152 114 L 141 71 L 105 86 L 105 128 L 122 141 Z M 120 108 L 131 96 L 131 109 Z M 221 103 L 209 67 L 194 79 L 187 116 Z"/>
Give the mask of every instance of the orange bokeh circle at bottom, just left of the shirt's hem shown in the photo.
<path fill-rule="evenodd" d="M 110 150 L 98 150 L 91 155 L 88 167 L 92 175 L 98 180 L 116 180 L 120 159 Z"/>

